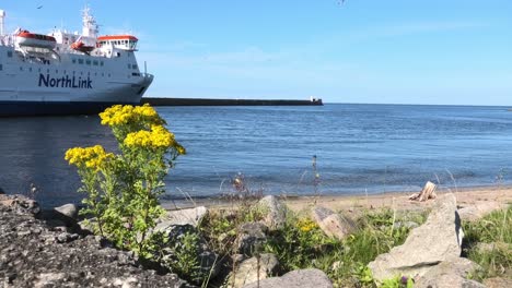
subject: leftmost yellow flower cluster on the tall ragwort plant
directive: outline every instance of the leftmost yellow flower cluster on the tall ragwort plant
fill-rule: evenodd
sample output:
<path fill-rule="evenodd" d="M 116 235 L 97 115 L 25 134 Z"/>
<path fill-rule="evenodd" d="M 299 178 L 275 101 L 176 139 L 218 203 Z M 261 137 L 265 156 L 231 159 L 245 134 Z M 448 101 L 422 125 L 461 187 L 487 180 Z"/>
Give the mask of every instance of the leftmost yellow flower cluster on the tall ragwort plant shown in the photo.
<path fill-rule="evenodd" d="M 66 152 L 65 159 L 68 160 L 70 165 L 74 164 L 79 167 L 85 165 L 86 168 L 98 170 L 103 167 L 107 159 L 113 157 L 114 154 L 106 153 L 101 145 L 96 145 L 85 148 L 70 148 Z"/>

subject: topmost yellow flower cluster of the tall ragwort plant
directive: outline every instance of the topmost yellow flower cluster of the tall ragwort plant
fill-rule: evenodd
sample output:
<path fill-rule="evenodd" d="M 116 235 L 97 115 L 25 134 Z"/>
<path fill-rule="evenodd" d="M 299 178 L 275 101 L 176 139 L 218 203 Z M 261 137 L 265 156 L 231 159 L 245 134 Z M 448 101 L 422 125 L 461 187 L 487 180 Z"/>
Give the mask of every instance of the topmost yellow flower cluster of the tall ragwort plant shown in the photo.
<path fill-rule="evenodd" d="M 143 106 L 114 105 L 100 113 L 103 125 L 120 125 L 130 121 L 144 119 L 150 122 L 161 122 L 159 113 L 149 104 Z"/>

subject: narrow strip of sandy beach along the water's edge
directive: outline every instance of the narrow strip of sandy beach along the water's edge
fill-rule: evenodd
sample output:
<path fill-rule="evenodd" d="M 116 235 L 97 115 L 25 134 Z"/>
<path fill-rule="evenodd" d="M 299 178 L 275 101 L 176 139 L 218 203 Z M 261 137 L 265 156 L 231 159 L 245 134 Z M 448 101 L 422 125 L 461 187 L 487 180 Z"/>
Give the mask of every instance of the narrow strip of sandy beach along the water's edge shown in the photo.
<path fill-rule="evenodd" d="M 354 208 L 396 208 L 398 211 L 422 209 L 430 207 L 434 201 L 410 201 L 411 194 L 420 191 L 381 192 L 373 194 L 318 194 L 318 195 L 277 195 L 293 211 L 303 211 L 307 206 L 322 205 L 335 211 L 352 211 Z M 512 185 L 464 187 L 457 189 L 438 188 L 438 195 L 453 192 L 461 207 L 492 202 L 499 205 L 512 204 Z M 167 209 L 183 209 L 196 206 L 210 208 L 234 207 L 241 200 L 230 200 L 221 196 L 164 200 L 162 206 Z"/>

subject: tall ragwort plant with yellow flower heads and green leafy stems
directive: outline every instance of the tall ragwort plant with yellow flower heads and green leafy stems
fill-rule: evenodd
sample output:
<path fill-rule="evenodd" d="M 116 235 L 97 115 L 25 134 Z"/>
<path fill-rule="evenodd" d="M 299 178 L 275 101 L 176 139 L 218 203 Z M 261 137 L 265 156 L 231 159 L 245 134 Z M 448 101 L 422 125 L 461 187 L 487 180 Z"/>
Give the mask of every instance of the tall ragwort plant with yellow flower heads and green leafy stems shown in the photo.
<path fill-rule="evenodd" d="M 149 232 L 164 213 L 159 204 L 163 178 L 185 148 L 149 105 L 115 105 L 100 117 L 120 153 L 106 153 L 101 145 L 66 152 L 66 160 L 77 166 L 82 179 L 79 191 L 86 194 L 81 213 L 92 216 L 96 233 L 147 256 Z"/>

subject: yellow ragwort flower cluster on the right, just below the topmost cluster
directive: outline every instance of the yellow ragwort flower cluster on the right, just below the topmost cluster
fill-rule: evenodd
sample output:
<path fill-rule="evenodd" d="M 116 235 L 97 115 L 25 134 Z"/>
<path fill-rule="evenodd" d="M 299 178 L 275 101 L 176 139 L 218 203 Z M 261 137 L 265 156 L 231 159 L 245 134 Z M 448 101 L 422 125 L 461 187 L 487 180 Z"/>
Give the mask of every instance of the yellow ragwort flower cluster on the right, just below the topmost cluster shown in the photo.
<path fill-rule="evenodd" d="M 126 135 L 125 145 L 149 149 L 175 147 L 179 154 L 185 149 L 174 140 L 174 134 L 163 125 L 152 125 L 151 131 L 141 130 Z"/>

